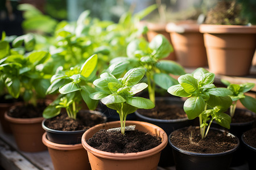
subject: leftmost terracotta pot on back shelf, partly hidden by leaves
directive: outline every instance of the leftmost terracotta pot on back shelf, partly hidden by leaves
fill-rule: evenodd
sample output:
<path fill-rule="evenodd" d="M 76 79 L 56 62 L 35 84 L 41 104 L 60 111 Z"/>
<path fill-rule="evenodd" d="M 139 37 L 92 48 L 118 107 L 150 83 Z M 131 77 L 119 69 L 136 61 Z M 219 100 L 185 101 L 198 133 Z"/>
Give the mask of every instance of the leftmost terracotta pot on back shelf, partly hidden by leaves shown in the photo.
<path fill-rule="evenodd" d="M 148 32 L 147 32 L 147 40 L 149 42 L 154 39 L 154 37 L 158 34 L 162 34 L 164 37 L 166 37 L 167 40 L 169 40 L 170 44 L 172 44 L 171 37 L 168 32 L 166 32 L 166 24 L 161 23 L 150 23 L 150 22 L 144 22 L 144 25 L 147 25 Z M 164 59 L 171 59 L 173 61 L 176 60 L 176 54 L 175 51 L 170 53 L 170 55 L 167 58 Z"/>

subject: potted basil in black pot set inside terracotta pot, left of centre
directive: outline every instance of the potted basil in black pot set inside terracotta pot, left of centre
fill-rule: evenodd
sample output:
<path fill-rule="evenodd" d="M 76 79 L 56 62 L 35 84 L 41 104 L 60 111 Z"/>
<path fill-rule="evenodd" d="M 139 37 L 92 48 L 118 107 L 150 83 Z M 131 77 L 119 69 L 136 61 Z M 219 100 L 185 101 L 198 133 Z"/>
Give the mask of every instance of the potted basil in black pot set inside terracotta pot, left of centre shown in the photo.
<path fill-rule="evenodd" d="M 97 70 L 97 59 L 97 54 L 94 54 L 81 68 L 59 70 L 51 78 L 47 93 L 59 91 L 60 96 L 43 112 L 42 127 L 46 133 L 42 140 L 48 147 L 55 169 L 89 169 L 87 154 L 81 145 L 82 134 L 90 127 L 106 122 L 102 113 L 92 111 L 98 101 L 89 98 L 96 91 L 91 80 Z M 81 109 L 82 102 L 90 110 Z"/>

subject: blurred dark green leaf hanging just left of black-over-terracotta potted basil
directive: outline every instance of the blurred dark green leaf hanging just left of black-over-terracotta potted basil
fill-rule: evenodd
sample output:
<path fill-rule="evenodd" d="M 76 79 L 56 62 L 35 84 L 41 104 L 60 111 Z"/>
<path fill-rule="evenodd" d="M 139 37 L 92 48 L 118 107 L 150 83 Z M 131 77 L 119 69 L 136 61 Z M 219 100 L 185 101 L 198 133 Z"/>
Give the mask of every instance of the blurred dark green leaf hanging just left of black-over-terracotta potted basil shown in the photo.
<path fill-rule="evenodd" d="M 49 88 L 49 86 L 51 85 L 51 83 L 47 79 L 35 79 L 33 81 L 33 84 L 34 84 L 36 94 L 39 97 L 46 96 L 46 91 Z"/>

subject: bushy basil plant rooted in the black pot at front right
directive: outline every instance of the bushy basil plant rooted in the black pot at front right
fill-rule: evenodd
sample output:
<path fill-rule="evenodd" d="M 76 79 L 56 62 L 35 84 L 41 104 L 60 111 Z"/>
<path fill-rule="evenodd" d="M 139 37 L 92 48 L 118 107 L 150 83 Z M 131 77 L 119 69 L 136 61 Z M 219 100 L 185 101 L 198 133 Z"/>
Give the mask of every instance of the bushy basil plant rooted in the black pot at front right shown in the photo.
<path fill-rule="evenodd" d="M 231 117 L 224 113 L 232 104 L 228 88 L 216 87 L 213 84 L 214 74 L 199 68 L 192 74 L 181 75 L 179 84 L 168 88 L 168 92 L 179 97 L 188 97 L 184 111 L 190 120 L 199 117 L 201 138 L 207 137 L 213 121 L 230 129 Z"/>

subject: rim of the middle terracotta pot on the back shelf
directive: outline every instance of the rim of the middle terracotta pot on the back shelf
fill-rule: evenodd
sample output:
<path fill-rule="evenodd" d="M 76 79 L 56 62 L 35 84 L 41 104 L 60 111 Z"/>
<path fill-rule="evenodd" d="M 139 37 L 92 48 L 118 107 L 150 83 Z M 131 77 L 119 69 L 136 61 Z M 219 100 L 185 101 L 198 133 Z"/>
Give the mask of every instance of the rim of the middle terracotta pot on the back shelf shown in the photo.
<path fill-rule="evenodd" d="M 197 23 L 168 23 L 166 25 L 167 32 L 185 33 L 199 32 L 200 24 Z"/>

